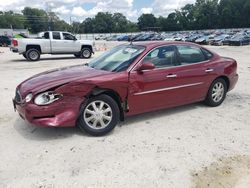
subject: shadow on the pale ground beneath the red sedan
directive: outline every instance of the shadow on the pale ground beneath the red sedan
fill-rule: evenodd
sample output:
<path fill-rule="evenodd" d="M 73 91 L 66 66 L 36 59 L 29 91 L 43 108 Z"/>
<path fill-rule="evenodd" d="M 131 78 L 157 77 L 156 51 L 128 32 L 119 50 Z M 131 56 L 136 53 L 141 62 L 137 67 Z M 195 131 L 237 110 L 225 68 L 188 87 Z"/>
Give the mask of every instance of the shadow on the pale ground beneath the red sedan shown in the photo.
<path fill-rule="evenodd" d="M 146 122 L 152 118 L 157 119 L 162 116 L 170 116 L 170 115 L 179 114 L 185 111 L 190 111 L 190 110 L 203 108 L 203 107 L 206 108 L 203 104 L 196 103 L 196 104 L 181 106 L 177 108 L 171 108 L 167 110 L 160 110 L 160 111 L 145 113 L 145 114 L 136 115 L 132 117 L 127 117 L 124 122 L 121 122 L 119 124 L 119 126 L 120 127 L 124 125 L 133 126 L 133 124 L 135 123 Z M 29 139 L 29 140 L 46 141 L 46 140 L 53 140 L 53 139 L 66 139 L 75 135 L 91 137 L 87 135 L 86 133 L 81 132 L 80 129 L 77 127 L 70 127 L 70 128 L 38 127 L 38 126 L 34 126 L 25 122 L 19 117 L 14 122 L 14 129 L 20 135 L 22 135 L 25 139 Z M 115 132 L 116 131 L 114 130 L 106 136 L 115 134 Z"/>

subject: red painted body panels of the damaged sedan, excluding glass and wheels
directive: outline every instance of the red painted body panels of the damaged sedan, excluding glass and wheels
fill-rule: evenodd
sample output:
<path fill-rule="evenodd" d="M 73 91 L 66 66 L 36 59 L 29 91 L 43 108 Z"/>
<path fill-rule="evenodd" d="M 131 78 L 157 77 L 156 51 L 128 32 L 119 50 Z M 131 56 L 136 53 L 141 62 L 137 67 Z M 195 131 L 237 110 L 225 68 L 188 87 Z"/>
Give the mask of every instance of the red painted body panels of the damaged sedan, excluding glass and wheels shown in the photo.
<path fill-rule="evenodd" d="M 65 127 L 75 126 L 81 104 L 95 88 L 114 91 L 121 102 L 127 102 L 129 108 L 124 111 L 125 116 L 202 101 L 213 80 L 220 76 L 228 78 L 229 90 L 234 88 L 238 80 L 236 61 L 222 58 L 216 53 L 213 53 L 212 59 L 203 63 L 136 71 L 141 66 L 140 60 L 150 50 L 162 45 L 176 44 L 200 47 L 184 42 L 137 43 L 144 45 L 146 49 L 127 71 L 107 72 L 81 65 L 44 72 L 27 79 L 17 87 L 22 98 L 30 92 L 36 96 L 48 90 L 60 93 L 63 97 L 46 106 L 37 106 L 33 100 L 28 103 L 14 100 L 14 104 L 19 114 L 32 124 Z M 214 71 L 206 73 L 207 69 Z M 178 76 L 166 77 L 171 75 Z M 190 84 L 196 85 L 181 87 Z M 152 90 L 159 92 L 147 93 Z"/>

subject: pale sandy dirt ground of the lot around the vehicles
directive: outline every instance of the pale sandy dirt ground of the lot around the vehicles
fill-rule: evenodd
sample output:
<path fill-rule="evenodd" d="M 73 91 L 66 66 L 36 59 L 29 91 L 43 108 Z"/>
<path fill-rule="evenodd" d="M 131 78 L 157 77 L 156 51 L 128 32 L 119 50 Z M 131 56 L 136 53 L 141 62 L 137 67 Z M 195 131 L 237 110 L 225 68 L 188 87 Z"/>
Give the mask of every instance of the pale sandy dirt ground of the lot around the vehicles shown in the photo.
<path fill-rule="evenodd" d="M 220 107 L 197 103 L 130 117 L 98 138 L 29 125 L 11 101 L 26 78 L 86 60 L 27 62 L 0 48 L 0 187 L 249 188 L 250 46 L 208 48 L 238 61 L 239 82 Z"/>

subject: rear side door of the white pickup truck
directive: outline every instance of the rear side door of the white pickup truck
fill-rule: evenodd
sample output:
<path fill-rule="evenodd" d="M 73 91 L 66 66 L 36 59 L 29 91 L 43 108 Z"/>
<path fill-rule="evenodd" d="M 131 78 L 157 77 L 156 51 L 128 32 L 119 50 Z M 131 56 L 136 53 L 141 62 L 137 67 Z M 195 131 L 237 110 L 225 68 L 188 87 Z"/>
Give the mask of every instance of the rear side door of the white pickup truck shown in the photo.
<path fill-rule="evenodd" d="M 63 53 L 65 51 L 60 32 L 53 31 L 51 36 L 51 53 Z"/>

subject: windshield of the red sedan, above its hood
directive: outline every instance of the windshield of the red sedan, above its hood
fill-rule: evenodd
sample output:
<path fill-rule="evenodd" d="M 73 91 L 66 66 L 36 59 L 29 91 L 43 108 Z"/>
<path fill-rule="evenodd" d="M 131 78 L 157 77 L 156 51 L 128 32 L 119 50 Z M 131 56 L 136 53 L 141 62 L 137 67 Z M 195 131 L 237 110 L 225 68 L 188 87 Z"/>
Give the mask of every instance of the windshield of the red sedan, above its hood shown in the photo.
<path fill-rule="evenodd" d="M 121 45 L 92 60 L 88 66 L 110 72 L 121 72 L 145 50 L 143 46 Z"/>

